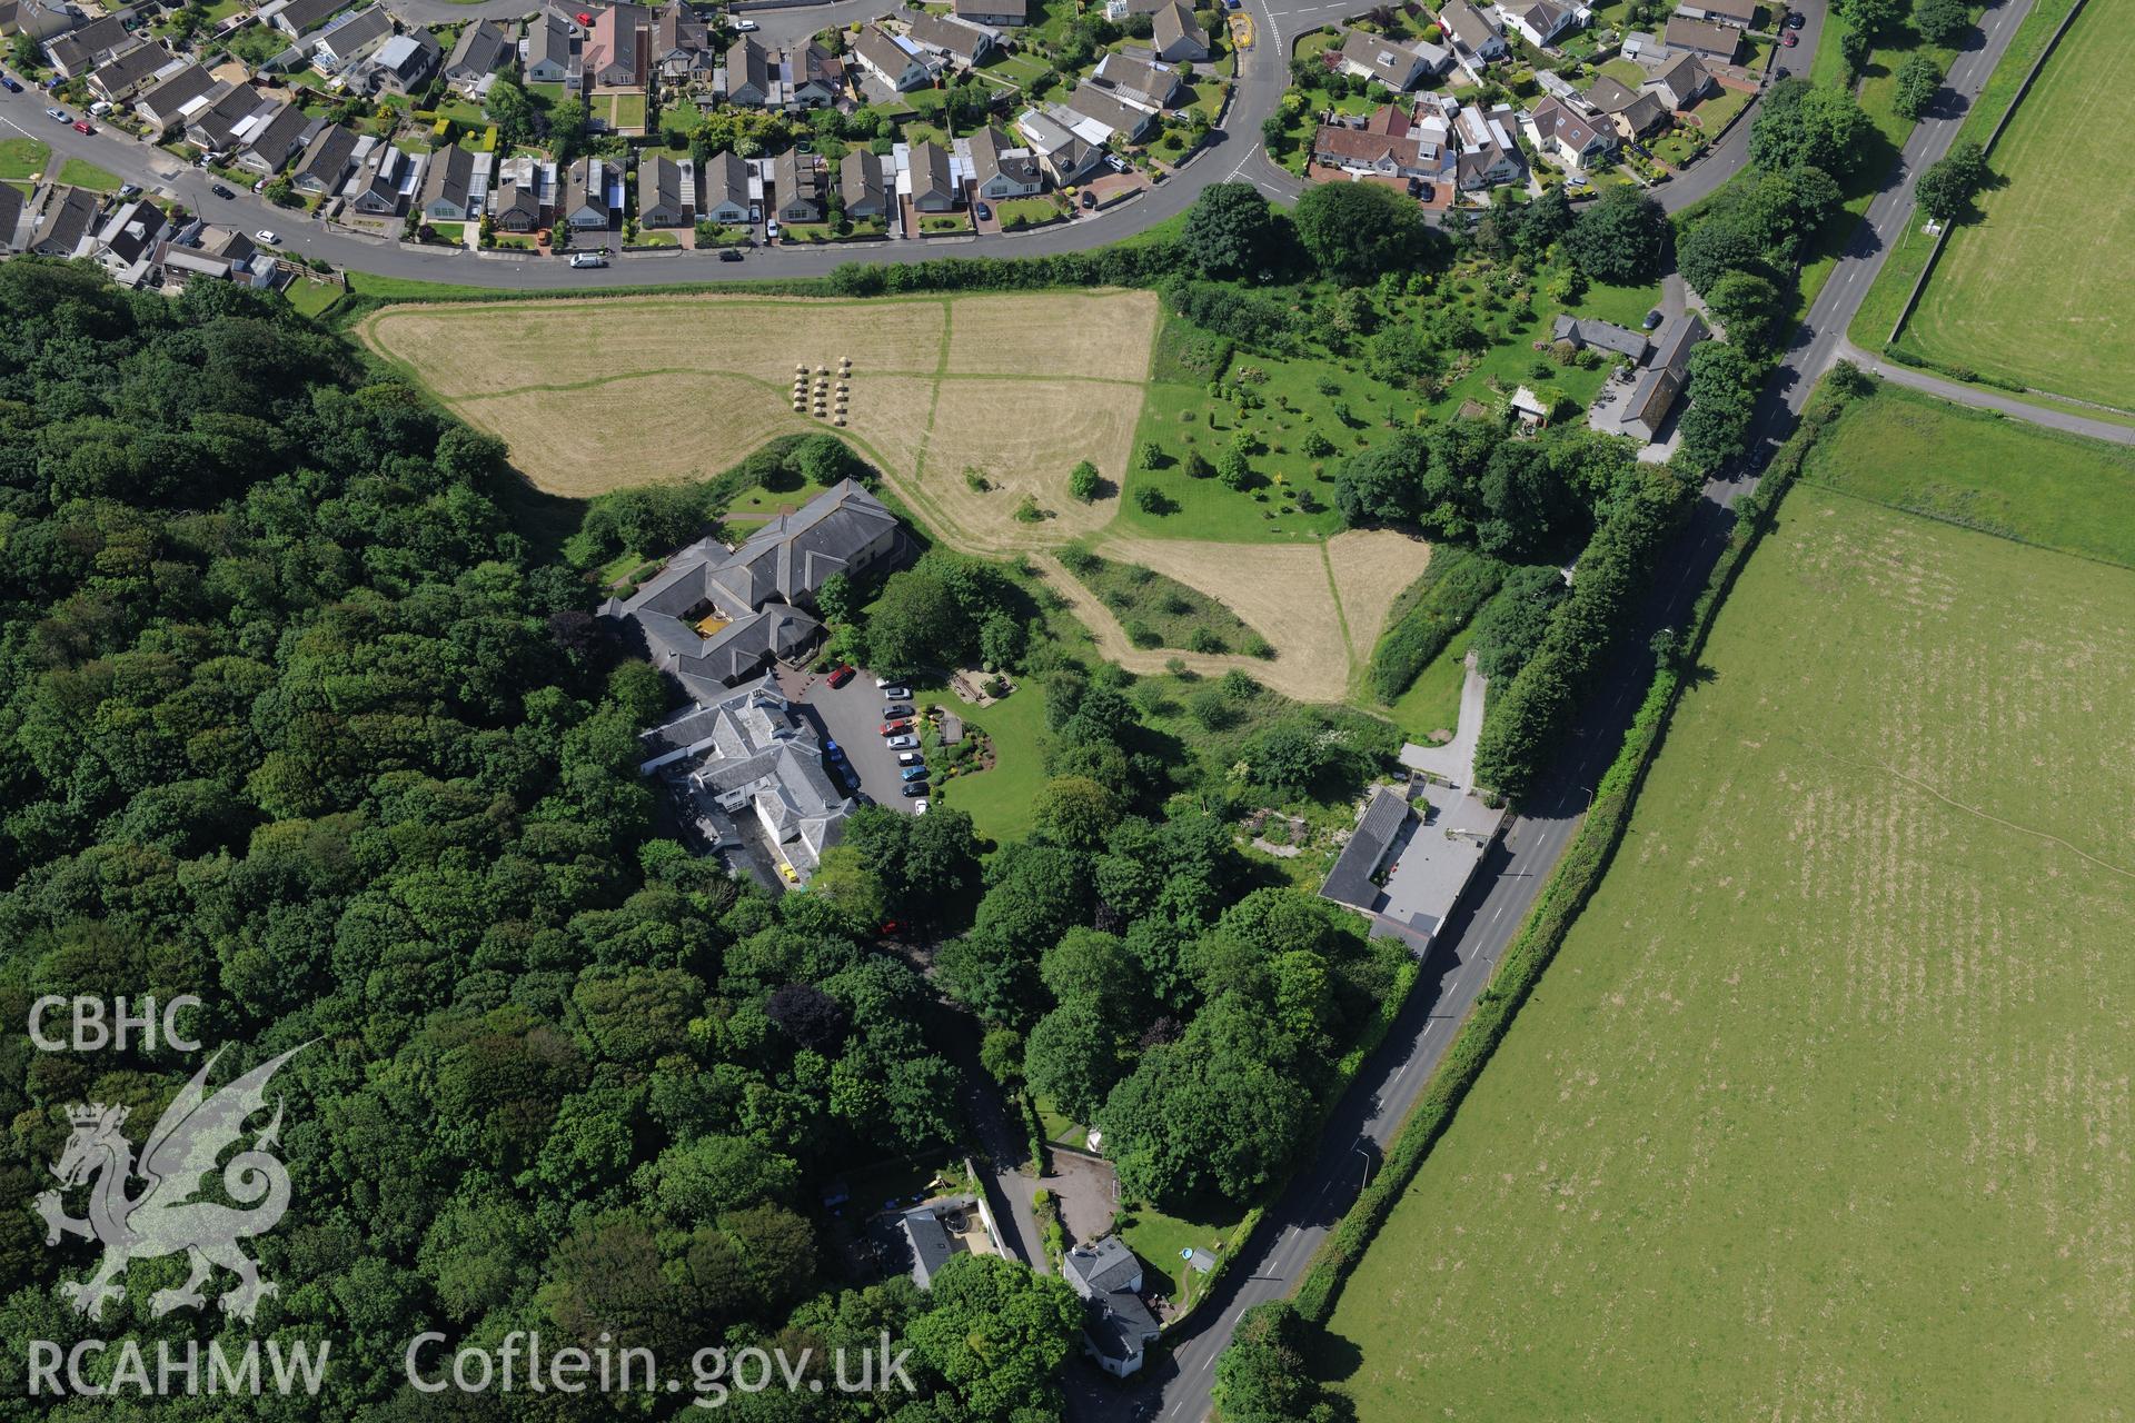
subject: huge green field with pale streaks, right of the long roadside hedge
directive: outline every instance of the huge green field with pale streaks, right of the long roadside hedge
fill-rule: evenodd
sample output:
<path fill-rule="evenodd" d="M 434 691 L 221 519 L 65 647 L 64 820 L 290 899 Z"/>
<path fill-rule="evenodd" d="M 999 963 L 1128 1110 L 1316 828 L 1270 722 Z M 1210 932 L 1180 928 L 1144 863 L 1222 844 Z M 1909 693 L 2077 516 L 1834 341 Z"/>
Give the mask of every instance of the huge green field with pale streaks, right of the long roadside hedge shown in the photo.
<path fill-rule="evenodd" d="M 2067 489 L 2124 486 L 2037 437 L 1934 467 L 1904 416 L 1849 416 L 1843 489 L 1787 497 L 1614 868 L 1343 1291 L 1364 1423 L 2135 1395 L 2135 572 L 1860 497 L 1964 480 L 2052 542 Z"/>

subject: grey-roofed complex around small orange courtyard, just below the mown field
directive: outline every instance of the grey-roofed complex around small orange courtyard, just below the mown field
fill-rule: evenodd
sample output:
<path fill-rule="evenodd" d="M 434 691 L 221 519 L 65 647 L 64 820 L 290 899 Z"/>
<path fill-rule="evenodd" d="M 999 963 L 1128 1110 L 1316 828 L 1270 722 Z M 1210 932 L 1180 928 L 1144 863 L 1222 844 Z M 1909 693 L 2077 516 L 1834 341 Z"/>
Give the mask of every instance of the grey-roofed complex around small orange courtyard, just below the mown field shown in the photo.
<path fill-rule="evenodd" d="M 897 516 L 843 480 L 794 514 L 781 514 L 734 550 L 696 542 L 606 617 L 628 619 L 647 651 L 690 695 L 707 700 L 790 659 L 822 631 L 807 608 L 831 574 L 873 567 L 899 548 Z"/>

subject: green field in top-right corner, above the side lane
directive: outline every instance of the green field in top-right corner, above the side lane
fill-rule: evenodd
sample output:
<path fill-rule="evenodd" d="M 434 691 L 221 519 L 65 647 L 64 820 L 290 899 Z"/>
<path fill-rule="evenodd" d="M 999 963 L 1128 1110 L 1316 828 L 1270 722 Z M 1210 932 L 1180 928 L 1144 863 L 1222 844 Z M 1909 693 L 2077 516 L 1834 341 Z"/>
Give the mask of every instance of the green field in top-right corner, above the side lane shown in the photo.
<path fill-rule="evenodd" d="M 2135 410 L 2135 203 L 2120 137 L 2135 128 L 2135 30 L 2092 4 L 2024 98 L 1979 196 L 1907 324 L 1930 358 Z"/>

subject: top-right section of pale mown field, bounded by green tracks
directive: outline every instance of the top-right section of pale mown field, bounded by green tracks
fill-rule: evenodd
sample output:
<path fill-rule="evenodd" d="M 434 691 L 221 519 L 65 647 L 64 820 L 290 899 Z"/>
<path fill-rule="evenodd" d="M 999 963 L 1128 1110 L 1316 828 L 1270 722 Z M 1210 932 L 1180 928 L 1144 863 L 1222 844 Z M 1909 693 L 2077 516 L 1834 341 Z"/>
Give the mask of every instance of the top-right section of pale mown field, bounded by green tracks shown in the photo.
<path fill-rule="evenodd" d="M 1155 335 L 1155 292 L 965 297 L 950 316 L 948 371 L 1080 375 L 1140 386 Z"/>

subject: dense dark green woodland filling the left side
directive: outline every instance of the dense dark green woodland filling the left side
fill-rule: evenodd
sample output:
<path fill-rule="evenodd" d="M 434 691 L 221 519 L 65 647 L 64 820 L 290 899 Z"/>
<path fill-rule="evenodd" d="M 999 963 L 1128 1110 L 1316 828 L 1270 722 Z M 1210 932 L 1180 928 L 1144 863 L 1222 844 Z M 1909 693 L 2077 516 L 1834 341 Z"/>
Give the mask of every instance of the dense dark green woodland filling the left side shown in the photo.
<path fill-rule="evenodd" d="M 495 442 L 280 305 L 36 260 L 0 267 L 0 1013 L 194 992 L 224 1067 L 312 1043 L 278 1077 L 295 1205 L 254 1244 L 280 1284 L 258 1329 L 333 1338 L 327 1393 L 158 1417 L 436 1417 L 401 1385 L 416 1329 L 673 1357 L 888 1329 L 916 1395 L 728 1408 L 1057 1412 L 1063 1284 L 967 1261 L 920 1295 L 839 1259 L 822 1186 L 963 1135 L 933 992 L 833 896 L 771 902 L 658 832 L 634 732 L 668 693 L 510 531 Z M 963 817 L 924 828 L 939 875 L 976 877 Z M 11 1417 L 107 1417 L 21 1402 L 23 1342 L 220 1318 L 149 1318 L 181 1259 L 77 1318 L 53 1284 L 88 1248 L 45 1250 L 28 1201 L 60 1107 L 126 1103 L 145 1135 L 194 1062 L 0 1052 Z"/>

